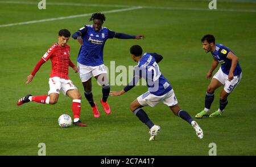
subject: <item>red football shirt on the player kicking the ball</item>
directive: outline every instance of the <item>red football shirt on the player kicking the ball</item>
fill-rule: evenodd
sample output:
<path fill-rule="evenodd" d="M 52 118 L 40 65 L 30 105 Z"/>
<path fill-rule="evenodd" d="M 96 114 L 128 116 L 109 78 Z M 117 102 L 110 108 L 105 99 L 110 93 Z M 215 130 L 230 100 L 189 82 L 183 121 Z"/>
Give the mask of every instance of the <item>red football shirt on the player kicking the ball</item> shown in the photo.
<path fill-rule="evenodd" d="M 46 54 L 43 55 L 42 59 L 44 59 L 44 61 L 51 59 L 52 62 L 50 78 L 58 76 L 59 78 L 69 79 L 69 50 L 68 45 L 62 47 L 55 43 L 47 50 Z"/>

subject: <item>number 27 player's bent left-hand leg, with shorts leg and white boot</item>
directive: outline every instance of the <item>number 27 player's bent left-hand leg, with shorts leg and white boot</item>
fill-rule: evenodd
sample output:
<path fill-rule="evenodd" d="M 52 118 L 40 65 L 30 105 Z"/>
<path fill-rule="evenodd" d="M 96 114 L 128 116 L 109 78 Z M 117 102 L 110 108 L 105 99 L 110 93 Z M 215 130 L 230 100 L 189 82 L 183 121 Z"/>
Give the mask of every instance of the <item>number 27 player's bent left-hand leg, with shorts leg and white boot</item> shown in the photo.
<path fill-rule="evenodd" d="M 130 105 L 130 110 L 136 115 L 141 122 L 143 122 L 147 127 L 150 129 L 150 141 L 155 140 L 155 136 L 160 131 L 161 127 L 155 125 L 144 110 L 142 109 L 143 106 L 150 105 L 154 107 L 156 104 L 159 103 L 160 100 L 157 96 L 150 94 L 150 92 L 146 92 L 143 95 L 139 96 L 136 100 L 134 100 Z"/>

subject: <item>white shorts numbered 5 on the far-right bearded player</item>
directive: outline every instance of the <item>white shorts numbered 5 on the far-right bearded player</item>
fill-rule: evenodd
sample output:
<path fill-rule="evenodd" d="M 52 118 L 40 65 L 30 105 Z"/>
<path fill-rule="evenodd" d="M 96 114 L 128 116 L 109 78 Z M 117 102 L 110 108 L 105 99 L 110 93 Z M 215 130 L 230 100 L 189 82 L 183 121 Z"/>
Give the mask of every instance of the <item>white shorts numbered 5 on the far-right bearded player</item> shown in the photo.
<path fill-rule="evenodd" d="M 220 67 L 220 69 L 218 69 L 216 74 L 214 74 L 213 78 L 217 79 L 220 83 L 222 83 L 222 85 L 224 85 L 224 91 L 230 94 L 240 83 L 242 78 L 242 72 L 241 74 L 234 76 L 234 79 L 229 81 L 228 75 L 226 75 L 221 70 L 221 67 Z"/>

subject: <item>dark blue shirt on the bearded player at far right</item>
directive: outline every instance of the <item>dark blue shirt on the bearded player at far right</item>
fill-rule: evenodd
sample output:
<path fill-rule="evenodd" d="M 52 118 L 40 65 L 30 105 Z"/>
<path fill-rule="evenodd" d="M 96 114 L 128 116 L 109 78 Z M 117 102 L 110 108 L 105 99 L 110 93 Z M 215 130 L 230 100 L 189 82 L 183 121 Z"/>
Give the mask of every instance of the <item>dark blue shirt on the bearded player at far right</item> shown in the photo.
<path fill-rule="evenodd" d="M 228 47 L 221 44 L 216 44 L 214 52 L 211 52 L 213 58 L 221 64 L 221 70 L 226 75 L 229 75 L 229 70 L 232 65 L 232 60 L 227 58 L 229 52 L 232 51 Z M 239 75 L 241 72 L 242 69 L 239 63 L 237 63 L 237 67 L 234 70 L 234 76 Z"/>

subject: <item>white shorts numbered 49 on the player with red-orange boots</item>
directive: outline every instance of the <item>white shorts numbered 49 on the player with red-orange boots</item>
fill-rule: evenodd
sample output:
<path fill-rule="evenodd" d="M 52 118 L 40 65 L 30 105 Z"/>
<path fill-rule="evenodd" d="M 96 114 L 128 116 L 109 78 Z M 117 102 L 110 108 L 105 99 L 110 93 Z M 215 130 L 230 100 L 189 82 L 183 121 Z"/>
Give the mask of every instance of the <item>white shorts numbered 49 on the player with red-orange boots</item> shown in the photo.
<path fill-rule="evenodd" d="M 79 68 L 79 76 L 81 82 L 88 81 L 90 78 L 92 78 L 92 76 L 107 73 L 107 69 L 104 64 L 100 66 L 85 66 L 80 63 L 77 63 L 77 67 Z"/>

